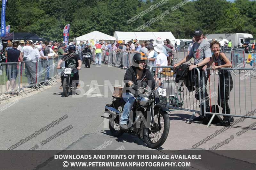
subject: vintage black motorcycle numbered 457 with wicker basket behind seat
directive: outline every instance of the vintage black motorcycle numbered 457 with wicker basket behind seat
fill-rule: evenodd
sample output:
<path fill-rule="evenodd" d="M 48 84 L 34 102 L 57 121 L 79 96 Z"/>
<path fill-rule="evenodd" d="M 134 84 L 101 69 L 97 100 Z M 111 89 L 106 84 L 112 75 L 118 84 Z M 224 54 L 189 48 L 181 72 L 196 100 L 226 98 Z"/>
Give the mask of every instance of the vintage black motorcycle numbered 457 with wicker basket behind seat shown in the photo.
<path fill-rule="evenodd" d="M 156 90 L 140 87 L 140 95 L 135 99 L 132 111 L 129 114 L 128 129 L 122 129 L 119 125 L 119 117 L 122 114 L 125 101 L 121 97 L 122 87 L 115 87 L 119 95 L 114 95 L 110 105 L 105 106 L 108 116 L 101 116 L 109 120 L 109 130 L 114 137 L 120 137 L 124 132 L 130 133 L 142 139 L 149 148 L 159 148 L 164 144 L 169 134 L 170 120 L 166 107 L 166 89 L 161 86 Z"/>

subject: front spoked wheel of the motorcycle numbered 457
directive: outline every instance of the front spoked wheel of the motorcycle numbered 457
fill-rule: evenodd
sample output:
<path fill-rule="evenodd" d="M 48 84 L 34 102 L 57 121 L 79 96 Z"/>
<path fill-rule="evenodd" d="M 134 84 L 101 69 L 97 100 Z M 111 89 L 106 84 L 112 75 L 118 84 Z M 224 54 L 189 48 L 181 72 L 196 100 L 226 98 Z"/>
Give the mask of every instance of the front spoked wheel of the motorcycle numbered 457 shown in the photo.
<path fill-rule="evenodd" d="M 169 116 L 167 112 L 157 108 L 154 110 L 154 124 L 152 122 L 149 128 L 143 127 L 143 139 L 149 148 L 159 148 L 164 144 L 169 134 Z"/>

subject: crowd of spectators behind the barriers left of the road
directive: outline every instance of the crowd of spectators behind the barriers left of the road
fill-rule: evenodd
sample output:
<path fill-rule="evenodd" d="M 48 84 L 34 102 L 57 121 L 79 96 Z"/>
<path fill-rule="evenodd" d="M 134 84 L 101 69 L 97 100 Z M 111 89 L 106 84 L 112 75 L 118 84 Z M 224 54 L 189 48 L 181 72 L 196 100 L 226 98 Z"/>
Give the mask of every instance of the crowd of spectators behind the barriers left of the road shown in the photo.
<path fill-rule="evenodd" d="M 36 82 L 36 63 L 40 59 L 42 68 L 46 68 L 47 79 L 50 79 L 49 66 L 51 64 L 51 58 L 59 57 L 59 55 L 65 55 L 66 44 L 64 42 L 48 42 L 48 41 L 8 41 L 7 47 L 5 48 L 4 55 L 5 61 L 2 62 L 10 63 L 6 65 L 6 92 L 13 91 L 15 89 L 18 69 L 17 64 L 12 62 L 24 62 L 21 65 L 21 74 L 25 73 L 24 76 L 28 79 L 29 87 L 33 87 Z M 44 62 L 43 62 L 44 61 Z M 46 64 L 44 64 L 46 63 Z M 42 70 L 40 68 L 40 70 Z M 37 70 L 39 72 L 39 70 Z M 10 88 L 11 87 L 11 88 Z"/>

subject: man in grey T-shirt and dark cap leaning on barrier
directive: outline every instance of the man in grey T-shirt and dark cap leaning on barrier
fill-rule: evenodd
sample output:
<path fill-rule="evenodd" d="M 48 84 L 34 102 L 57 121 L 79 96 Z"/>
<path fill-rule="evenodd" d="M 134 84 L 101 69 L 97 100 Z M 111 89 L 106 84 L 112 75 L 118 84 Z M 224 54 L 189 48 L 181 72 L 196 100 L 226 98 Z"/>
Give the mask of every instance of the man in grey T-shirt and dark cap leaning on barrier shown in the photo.
<path fill-rule="evenodd" d="M 181 60 L 179 63 L 174 64 L 174 68 L 178 67 L 180 64 L 186 63 L 188 62 L 192 57 L 194 58 L 194 64 L 191 64 L 189 66 L 189 70 L 193 70 L 194 68 L 198 68 L 200 71 L 200 86 L 202 87 L 202 79 L 203 79 L 203 70 L 202 67 L 204 65 L 206 65 L 207 63 L 210 62 L 210 59 L 212 57 L 212 52 L 210 49 L 210 43 L 208 41 L 206 41 L 204 39 L 204 34 L 202 33 L 201 30 L 195 30 L 194 31 L 194 38 L 196 40 L 196 42 L 193 44 L 192 48 L 189 51 L 189 54 L 183 59 Z M 195 75 L 196 74 L 196 75 Z M 198 85 L 198 75 L 197 72 L 195 71 L 195 78 L 192 78 L 192 81 L 194 85 L 196 85 L 196 93 L 195 93 L 195 97 L 196 100 L 200 100 L 199 95 L 201 94 L 201 99 L 203 99 L 203 97 L 205 97 L 205 106 L 206 109 L 209 107 L 209 98 L 208 98 L 208 93 L 206 91 L 206 87 L 204 87 L 204 93 L 203 90 L 198 90 L 199 85 Z M 207 70 L 207 75 L 210 74 L 210 70 Z M 208 80 L 208 76 L 206 76 L 204 78 L 204 84 L 207 84 L 207 80 Z M 202 116 L 204 116 L 204 106 L 203 104 L 201 104 L 201 113 Z M 194 120 L 202 120 L 201 117 L 199 116 L 198 118 L 194 119 Z"/>

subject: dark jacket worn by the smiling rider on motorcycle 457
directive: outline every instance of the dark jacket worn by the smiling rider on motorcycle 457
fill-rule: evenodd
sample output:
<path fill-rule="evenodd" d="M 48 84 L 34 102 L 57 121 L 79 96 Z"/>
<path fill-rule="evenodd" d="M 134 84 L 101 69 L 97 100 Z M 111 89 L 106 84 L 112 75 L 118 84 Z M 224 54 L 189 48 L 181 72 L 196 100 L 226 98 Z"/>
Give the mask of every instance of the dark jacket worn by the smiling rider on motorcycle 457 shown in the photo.
<path fill-rule="evenodd" d="M 155 89 L 155 87 L 158 86 L 148 69 L 143 70 L 143 74 L 140 80 L 137 80 L 136 74 L 136 67 L 134 66 L 131 66 L 126 70 L 124 75 L 125 85 L 122 94 L 125 92 L 131 92 L 134 95 L 134 90 L 128 85 L 129 81 L 132 81 L 135 85 L 138 85 L 138 87 L 142 86 L 142 82 L 146 82 L 151 89 Z"/>

